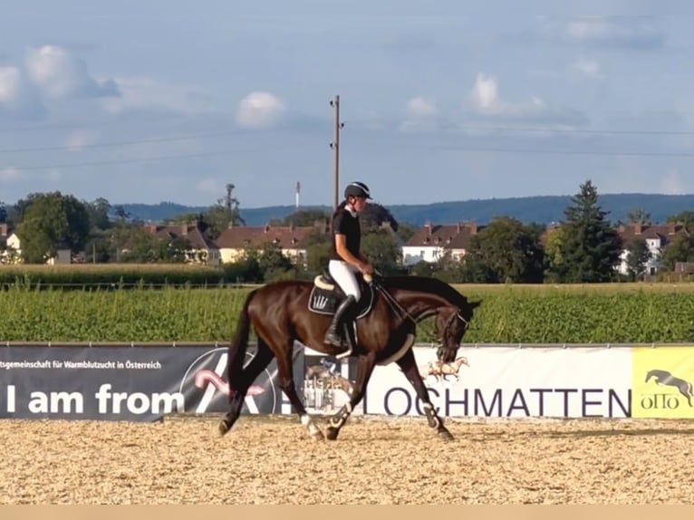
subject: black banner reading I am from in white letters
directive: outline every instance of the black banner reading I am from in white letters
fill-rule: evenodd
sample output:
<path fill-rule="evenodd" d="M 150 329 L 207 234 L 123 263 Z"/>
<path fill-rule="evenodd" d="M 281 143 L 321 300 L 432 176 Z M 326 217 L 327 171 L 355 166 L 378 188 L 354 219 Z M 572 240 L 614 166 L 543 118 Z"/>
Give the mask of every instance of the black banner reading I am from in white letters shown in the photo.
<path fill-rule="evenodd" d="M 246 362 L 255 354 L 249 346 Z M 255 379 L 243 414 L 294 413 L 275 359 Z M 294 374 L 304 371 L 294 351 Z M 302 395 L 303 378 L 295 378 Z M 0 419 L 159 420 L 227 411 L 227 347 L 0 347 Z"/>

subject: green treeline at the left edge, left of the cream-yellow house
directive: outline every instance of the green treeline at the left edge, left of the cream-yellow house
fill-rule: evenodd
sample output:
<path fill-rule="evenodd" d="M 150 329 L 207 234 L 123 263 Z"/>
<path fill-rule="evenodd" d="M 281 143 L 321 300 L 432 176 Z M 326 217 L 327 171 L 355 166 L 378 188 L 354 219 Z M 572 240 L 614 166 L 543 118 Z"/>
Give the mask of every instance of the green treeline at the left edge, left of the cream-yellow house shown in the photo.
<path fill-rule="evenodd" d="M 227 185 L 226 197 L 217 199 L 206 212 L 180 215 L 166 224 L 195 224 L 210 240 L 229 224 L 242 226 L 233 189 Z M 45 264 L 61 249 L 71 251 L 73 262 L 89 264 L 183 264 L 190 259 L 191 245 L 185 236 L 156 236 L 146 222 L 101 197 L 86 201 L 53 191 L 31 193 L 12 206 L 0 201 L 0 224 L 4 223 L 21 241 L 21 253 L 16 253 L 7 248 L 6 236 L 0 238 L 5 264 Z"/>

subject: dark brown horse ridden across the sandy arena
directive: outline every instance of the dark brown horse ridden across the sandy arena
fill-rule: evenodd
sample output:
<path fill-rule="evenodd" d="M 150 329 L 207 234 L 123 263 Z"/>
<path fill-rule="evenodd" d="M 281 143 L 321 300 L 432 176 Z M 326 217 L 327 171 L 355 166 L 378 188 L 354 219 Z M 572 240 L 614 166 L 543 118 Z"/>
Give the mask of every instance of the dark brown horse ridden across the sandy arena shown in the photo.
<path fill-rule="evenodd" d="M 283 280 L 265 284 L 247 294 L 238 317 L 236 337 L 228 349 L 229 408 L 218 425 L 222 436 L 236 423 L 248 388 L 275 357 L 278 385 L 314 439 L 335 440 L 352 410 L 363 398 L 374 367 L 391 362 L 399 365 L 416 391 L 429 427 L 440 438 L 453 439 L 429 399 L 412 345 L 417 324 L 436 316 L 441 341 L 437 357 L 443 362 L 454 361 L 474 310 L 481 301 L 468 302 L 449 284 L 424 276 L 366 274 L 360 276 L 359 280 L 362 285 L 361 299 L 352 316 L 352 327 L 344 327 L 344 335 L 351 345 L 346 354 L 333 345 L 323 343 L 334 310 L 345 297 L 329 273 L 317 275 L 313 282 Z M 244 366 L 251 327 L 257 338 L 257 349 L 254 358 Z M 357 358 L 357 375 L 351 399 L 329 419 L 325 434 L 316 426 L 296 393 L 292 363 L 296 341 L 326 355 Z"/>

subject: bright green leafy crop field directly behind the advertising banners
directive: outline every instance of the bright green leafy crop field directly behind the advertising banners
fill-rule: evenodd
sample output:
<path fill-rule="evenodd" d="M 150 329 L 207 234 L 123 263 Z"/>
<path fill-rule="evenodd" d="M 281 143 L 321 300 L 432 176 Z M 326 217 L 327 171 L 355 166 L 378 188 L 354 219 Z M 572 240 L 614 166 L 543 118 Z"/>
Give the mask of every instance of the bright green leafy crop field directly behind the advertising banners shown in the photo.
<path fill-rule="evenodd" d="M 694 284 L 456 285 L 466 342 L 694 342 Z M 0 292 L 0 342 L 228 342 L 248 289 Z M 435 341 L 431 322 L 419 342 Z"/>

